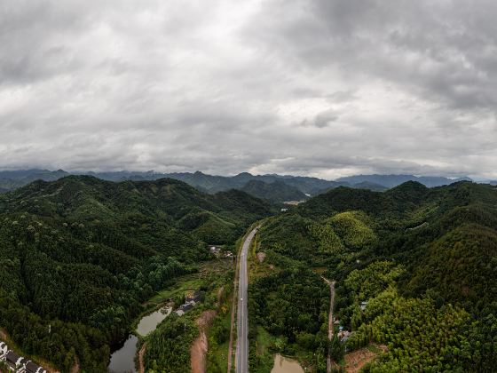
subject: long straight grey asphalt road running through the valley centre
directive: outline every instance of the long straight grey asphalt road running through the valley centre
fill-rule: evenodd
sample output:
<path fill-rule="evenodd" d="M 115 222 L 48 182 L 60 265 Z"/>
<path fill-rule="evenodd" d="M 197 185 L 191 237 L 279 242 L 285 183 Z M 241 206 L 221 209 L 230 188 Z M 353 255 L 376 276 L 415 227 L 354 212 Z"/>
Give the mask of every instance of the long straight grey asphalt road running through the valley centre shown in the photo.
<path fill-rule="evenodd" d="M 243 242 L 240 253 L 240 264 L 238 274 L 238 323 L 236 342 L 236 372 L 248 373 L 248 308 L 247 308 L 247 256 L 248 246 L 256 235 L 254 228 Z"/>

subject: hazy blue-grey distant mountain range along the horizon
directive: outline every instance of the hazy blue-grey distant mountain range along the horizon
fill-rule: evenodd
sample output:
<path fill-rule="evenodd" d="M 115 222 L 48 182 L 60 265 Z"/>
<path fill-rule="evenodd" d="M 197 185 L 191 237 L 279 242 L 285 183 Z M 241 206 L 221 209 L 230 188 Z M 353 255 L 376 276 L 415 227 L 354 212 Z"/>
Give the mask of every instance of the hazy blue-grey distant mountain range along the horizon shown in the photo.
<path fill-rule="evenodd" d="M 216 176 L 201 171 L 173 173 L 155 171 L 67 172 L 33 169 L 0 171 L 0 193 L 23 187 L 38 179 L 54 181 L 69 175 L 90 175 L 107 181 L 177 179 L 209 194 L 238 189 L 271 202 L 302 201 L 308 196 L 325 193 L 335 187 L 352 187 L 383 192 L 406 181 L 417 181 L 426 187 L 441 187 L 461 180 L 471 181 L 469 178 L 449 179 L 414 175 L 356 175 L 336 180 L 324 180 L 276 174 L 252 175 L 248 172 L 242 172 L 235 176 Z"/>

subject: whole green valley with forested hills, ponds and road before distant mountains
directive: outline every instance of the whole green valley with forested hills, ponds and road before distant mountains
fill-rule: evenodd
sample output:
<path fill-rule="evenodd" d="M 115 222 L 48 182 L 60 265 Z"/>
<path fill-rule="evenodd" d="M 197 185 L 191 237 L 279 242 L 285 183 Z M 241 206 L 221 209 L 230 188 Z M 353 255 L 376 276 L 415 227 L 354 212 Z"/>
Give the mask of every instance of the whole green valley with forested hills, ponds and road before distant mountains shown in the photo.
<path fill-rule="evenodd" d="M 489 371 L 494 187 L 338 187 L 276 206 L 171 179 L 1 194 L 2 327 L 61 372 L 217 373 L 237 305 L 233 371 Z"/>

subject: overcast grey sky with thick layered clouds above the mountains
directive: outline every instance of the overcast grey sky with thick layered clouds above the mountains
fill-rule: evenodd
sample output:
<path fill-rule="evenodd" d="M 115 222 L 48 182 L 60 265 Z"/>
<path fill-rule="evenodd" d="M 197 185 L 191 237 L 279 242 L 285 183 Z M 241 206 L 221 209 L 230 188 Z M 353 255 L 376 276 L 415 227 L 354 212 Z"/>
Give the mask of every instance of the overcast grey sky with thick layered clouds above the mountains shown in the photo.
<path fill-rule="evenodd" d="M 494 0 L 5 0 L 0 169 L 497 178 Z"/>

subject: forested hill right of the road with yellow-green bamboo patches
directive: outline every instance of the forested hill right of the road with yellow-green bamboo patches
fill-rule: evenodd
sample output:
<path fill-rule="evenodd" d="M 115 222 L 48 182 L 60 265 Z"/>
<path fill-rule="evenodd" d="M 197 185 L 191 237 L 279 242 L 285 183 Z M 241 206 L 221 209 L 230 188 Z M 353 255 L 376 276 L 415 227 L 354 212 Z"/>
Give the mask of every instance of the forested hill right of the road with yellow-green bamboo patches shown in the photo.
<path fill-rule="evenodd" d="M 372 371 L 493 371 L 496 217 L 490 185 L 338 187 L 268 219 L 259 242 L 269 264 L 293 261 L 336 281 L 335 314 L 353 332 L 349 351 L 388 347 Z M 286 328 L 298 343 L 299 324 Z M 334 346 L 339 360 L 343 350 Z"/>

